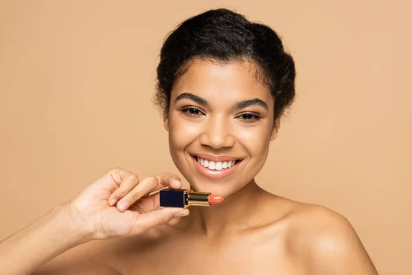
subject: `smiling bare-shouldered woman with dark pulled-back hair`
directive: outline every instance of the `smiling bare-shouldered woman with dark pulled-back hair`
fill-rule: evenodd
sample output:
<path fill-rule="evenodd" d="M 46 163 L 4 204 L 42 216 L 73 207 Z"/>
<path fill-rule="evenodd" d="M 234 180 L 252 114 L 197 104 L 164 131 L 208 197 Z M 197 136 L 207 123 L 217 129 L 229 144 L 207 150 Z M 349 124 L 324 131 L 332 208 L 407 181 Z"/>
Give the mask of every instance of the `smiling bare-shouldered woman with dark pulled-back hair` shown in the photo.
<path fill-rule="evenodd" d="M 180 189 L 178 176 L 115 168 L 3 240 L 1 274 L 377 274 L 340 214 L 255 183 L 295 96 L 273 30 L 199 14 L 168 36 L 157 76 L 174 164 L 192 190 L 225 200 L 158 209 L 148 194 Z"/>

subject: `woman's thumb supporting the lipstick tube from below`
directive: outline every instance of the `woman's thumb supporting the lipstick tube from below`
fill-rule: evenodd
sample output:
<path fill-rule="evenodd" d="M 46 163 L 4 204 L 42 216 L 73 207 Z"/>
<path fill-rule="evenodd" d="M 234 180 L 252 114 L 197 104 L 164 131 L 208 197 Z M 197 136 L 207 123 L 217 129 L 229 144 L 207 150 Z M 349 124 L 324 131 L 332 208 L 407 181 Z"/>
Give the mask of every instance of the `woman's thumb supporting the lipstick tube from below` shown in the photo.
<path fill-rule="evenodd" d="M 132 234 L 141 234 L 150 228 L 168 223 L 175 217 L 185 217 L 189 214 L 189 209 L 182 208 L 160 208 L 137 216 L 133 224 Z"/>

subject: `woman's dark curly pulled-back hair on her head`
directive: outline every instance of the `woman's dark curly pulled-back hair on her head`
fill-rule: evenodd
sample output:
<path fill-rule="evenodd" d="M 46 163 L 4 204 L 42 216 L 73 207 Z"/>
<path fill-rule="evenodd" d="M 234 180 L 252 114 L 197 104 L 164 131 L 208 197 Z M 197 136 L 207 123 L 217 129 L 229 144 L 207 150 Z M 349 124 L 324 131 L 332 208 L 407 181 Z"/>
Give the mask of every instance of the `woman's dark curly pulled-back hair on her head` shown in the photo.
<path fill-rule="evenodd" d="M 171 32 L 160 52 L 154 102 L 167 115 L 174 83 L 195 58 L 217 62 L 251 61 L 256 77 L 270 89 L 275 120 L 295 98 L 295 63 L 268 26 L 227 9 L 187 19 Z"/>

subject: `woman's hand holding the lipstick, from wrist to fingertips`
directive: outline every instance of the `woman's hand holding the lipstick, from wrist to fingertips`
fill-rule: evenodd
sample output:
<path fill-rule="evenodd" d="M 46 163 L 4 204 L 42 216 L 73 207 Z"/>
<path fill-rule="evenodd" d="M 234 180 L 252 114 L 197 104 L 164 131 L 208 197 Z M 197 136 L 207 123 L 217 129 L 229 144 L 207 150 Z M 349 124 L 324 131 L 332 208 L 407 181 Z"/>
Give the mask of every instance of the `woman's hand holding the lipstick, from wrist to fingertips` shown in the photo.
<path fill-rule="evenodd" d="M 177 175 L 137 176 L 122 168 L 114 168 L 86 186 L 65 203 L 73 222 L 87 232 L 87 239 L 140 234 L 174 217 L 183 217 L 189 210 L 159 208 L 159 193 L 170 187 L 180 189 Z"/>

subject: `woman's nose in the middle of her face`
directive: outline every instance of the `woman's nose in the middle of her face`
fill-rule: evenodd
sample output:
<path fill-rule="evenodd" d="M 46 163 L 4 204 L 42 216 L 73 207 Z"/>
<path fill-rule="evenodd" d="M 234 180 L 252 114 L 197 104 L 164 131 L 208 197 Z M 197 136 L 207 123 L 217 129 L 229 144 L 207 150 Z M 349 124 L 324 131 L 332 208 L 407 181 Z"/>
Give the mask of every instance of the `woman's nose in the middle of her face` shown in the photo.
<path fill-rule="evenodd" d="M 231 125 L 225 118 L 210 118 L 205 123 L 205 128 L 200 137 L 202 145 L 211 146 L 219 149 L 224 147 L 232 147 L 236 138 L 231 132 Z"/>

